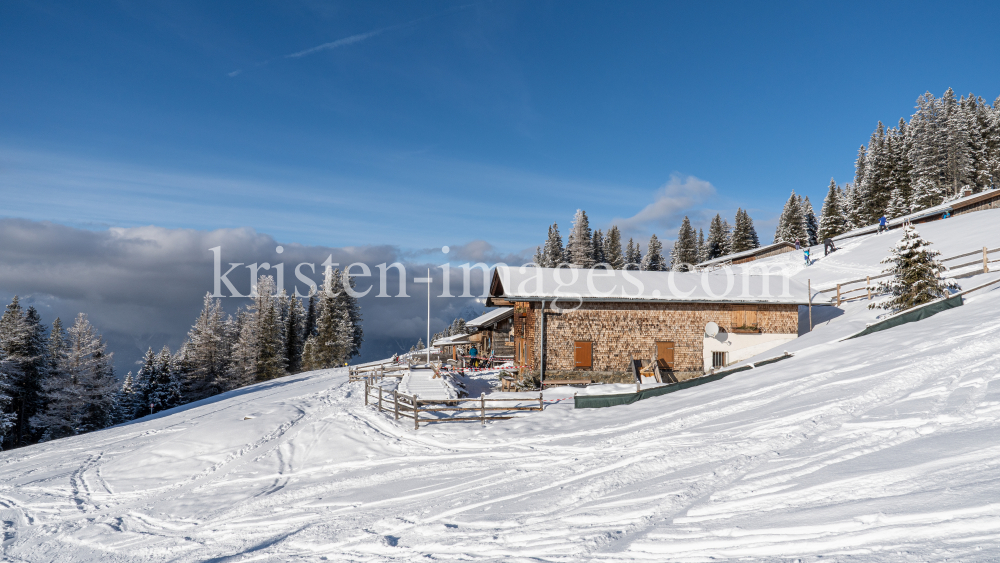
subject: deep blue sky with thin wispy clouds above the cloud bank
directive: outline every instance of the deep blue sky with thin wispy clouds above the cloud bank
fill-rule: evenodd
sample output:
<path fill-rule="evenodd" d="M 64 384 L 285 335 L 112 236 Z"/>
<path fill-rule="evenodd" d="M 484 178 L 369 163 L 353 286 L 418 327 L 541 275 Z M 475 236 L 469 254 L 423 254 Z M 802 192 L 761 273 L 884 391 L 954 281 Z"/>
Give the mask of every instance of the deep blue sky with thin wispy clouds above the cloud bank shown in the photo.
<path fill-rule="evenodd" d="M 819 205 L 924 91 L 1000 95 L 995 3 L 4 2 L 0 215 L 533 248 Z M 667 186 L 666 188 L 664 186 Z M 645 210 L 645 211 L 644 211 Z"/>

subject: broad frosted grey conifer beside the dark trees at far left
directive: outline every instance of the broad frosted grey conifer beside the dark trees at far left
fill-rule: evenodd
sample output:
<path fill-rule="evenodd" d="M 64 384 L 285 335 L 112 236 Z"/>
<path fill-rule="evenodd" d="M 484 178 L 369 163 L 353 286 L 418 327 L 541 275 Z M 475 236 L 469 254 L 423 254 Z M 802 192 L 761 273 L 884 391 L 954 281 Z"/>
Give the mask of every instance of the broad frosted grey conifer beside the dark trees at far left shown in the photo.
<path fill-rule="evenodd" d="M 80 313 L 65 335 L 59 323 L 52 329 L 49 356 L 55 368 L 45 382 L 47 406 L 32 421 L 44 429 L 43 441 L 108 426 L 118 388 L 113 354 L 86 315 Z"/>

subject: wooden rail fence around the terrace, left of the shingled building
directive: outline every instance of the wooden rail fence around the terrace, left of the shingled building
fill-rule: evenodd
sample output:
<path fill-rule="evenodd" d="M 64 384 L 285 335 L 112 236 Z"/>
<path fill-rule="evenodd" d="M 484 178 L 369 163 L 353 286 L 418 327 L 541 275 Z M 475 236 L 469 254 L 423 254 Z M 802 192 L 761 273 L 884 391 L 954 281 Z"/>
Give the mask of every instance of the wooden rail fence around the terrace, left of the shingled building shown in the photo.
<path fill-rule="evenodd" d="M 487 420 L 506 420 L 513 418 L 508 414 L 487 414 L 497 411 L 509 413 L 511 411 L 540 411 L 545 408 L 542 401 L 542 394 L 538 394 L 538 406 L 493 406 L 495 403 L 509 402 L 533 402 L 534 399 L 492 399 L 486 394 L 475 399 L 421 399 L 417 395 L 407 395 L 395 389 L 386 391 L 381 385 L 373 385 L 374 377 L 365 377 L 365 405 L 374 405 L 379 412 L 391 412 L 393 419 L 409 418 L 413 420 L 414 430 L 420 428 L 420 423 L 429 422 L 468 422 L 480 421 L 484 426 Z M 487 406 L 489 404 L 490 406 Z M 463 406 L 470 405 L 470 406 Z M 425 416 L 421 418 L 420 414 Z M 426 416 L 431 413 L 444 414 L 449 416 L 436 418 Z M 450 416 L 457 414 L 459 416 Z"/>

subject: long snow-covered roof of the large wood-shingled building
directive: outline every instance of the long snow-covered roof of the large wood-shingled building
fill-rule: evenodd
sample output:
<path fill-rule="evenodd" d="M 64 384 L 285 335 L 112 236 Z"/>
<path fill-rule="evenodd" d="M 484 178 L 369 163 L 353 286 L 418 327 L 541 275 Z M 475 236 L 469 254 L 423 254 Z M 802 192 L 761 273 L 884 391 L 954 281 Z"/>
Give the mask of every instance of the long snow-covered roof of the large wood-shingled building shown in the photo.
<path fill-rule="evenodd" d="M 750 275 L 634 270 L 498 267 L 492 298 L 508 301 L 637 301 L 665 303 L 773 303 L 805 305 L 808 289 L 780 271 Z M 829 305 L 823 294 L 813 305 Z M 565 305 L 569 307 L 570 305 Z"/>

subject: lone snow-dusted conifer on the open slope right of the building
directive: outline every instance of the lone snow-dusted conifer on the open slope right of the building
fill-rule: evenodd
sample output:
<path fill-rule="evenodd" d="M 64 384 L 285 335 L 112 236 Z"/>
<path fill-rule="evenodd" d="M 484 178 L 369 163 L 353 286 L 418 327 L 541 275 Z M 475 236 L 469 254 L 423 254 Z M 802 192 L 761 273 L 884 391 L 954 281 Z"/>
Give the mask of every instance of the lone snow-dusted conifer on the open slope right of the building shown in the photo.
<path fill-rule="evenodd" d="M 869 309 L 902 311 L 945 297 L 949 289 L 958 289 L 954 282 L 941 279 L 944 267 L 937 260 L 941 253 L 930 250 L 929 246 L 912 224 L 903 228 L 903 238 L 882 260 L 883 264 L 890 264 L 883 273 L 891 276 L 876 287 L 879 293 L 888 293 L 889 299 L 872 303 Z"/>

